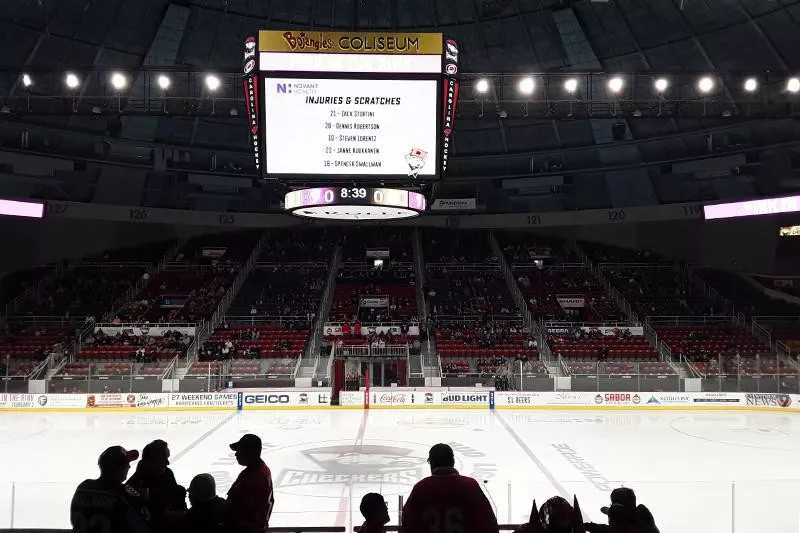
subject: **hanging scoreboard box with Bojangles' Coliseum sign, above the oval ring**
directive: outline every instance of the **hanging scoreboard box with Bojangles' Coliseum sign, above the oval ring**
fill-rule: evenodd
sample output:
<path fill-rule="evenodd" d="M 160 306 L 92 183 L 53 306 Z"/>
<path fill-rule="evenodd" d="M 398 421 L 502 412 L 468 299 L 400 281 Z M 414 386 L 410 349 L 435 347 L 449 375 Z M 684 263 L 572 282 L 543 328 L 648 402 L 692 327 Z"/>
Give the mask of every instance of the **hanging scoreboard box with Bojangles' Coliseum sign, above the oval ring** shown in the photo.
<path fill-rule="evenodd" d="M 447 167 L 458 46 L 440 33 L 261 31 L 243 67 L 266 178 L 429 181 Z"/>

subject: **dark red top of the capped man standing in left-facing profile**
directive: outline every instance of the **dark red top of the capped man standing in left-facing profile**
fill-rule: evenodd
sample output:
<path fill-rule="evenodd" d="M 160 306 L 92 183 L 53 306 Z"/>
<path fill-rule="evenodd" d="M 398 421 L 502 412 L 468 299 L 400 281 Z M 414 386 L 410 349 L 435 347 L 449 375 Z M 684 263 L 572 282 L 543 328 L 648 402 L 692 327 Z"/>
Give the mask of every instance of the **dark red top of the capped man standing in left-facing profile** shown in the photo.
<path fill-rule="evenodd" d="M 228 491 L 231 516 L 252 531 L 266 531 L 275 506 L 272 473 L 264 461 L 248 466 Z"/>

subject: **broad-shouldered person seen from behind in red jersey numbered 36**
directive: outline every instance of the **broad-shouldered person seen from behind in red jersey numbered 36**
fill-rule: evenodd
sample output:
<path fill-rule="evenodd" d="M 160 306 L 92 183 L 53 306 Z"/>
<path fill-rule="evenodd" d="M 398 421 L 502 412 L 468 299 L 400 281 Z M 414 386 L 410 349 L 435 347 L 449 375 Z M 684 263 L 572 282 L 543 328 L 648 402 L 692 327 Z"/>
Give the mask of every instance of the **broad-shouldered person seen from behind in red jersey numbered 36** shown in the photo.
<path fill-rule="evenodd" d="M 455 469 L 453 449 L 428 452 L 431 476 L 414 485 L 403 506 L 404 533 L 497 533 L 497 518 L 478 482 Z"/>

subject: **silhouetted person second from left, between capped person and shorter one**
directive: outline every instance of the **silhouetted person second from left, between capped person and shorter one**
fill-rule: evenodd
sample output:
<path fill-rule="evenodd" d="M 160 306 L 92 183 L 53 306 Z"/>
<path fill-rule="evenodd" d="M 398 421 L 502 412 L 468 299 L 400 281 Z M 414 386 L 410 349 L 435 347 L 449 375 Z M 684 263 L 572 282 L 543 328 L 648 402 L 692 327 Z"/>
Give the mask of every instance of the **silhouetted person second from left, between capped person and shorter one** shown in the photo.
<path fill-rule="evenodd" d="M 128 487 L 144 496 L 154 533 L 171 531 L 186 511 L 186 489 L 178 485 L 168 468 L 169 455 L 167 443 L 154 440 L 142 449 L 142 460 L 127 482 Z"/>

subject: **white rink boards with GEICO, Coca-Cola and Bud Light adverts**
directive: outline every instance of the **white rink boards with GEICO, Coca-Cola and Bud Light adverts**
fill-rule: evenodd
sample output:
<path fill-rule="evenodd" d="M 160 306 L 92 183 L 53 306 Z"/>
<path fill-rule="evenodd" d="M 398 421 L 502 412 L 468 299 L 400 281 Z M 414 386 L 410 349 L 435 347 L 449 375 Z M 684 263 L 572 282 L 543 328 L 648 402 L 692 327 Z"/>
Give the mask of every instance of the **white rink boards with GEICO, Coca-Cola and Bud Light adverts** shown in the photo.
<path fill-rule="evenodd" d="M 0 411 L 243 411 L 280 409 L 600 409 L 800 411 L 800 395 L 735 392 L 505 392 L 483 389 L 264 389 L 210 393 L 0 394 Z"/>

